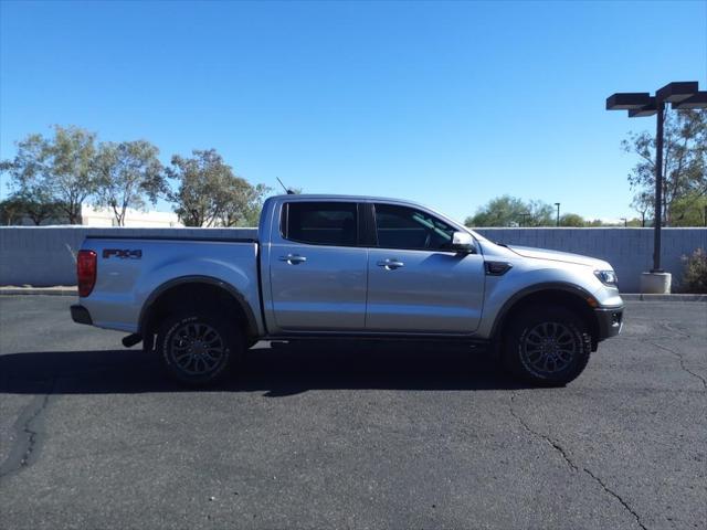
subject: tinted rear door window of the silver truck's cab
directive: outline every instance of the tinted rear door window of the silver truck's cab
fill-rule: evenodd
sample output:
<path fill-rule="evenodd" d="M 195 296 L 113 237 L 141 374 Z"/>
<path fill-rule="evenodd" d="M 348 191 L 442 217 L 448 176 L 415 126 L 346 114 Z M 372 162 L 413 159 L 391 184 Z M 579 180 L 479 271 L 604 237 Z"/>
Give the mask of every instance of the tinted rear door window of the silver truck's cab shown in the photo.
<path fill-rule="evenodd" d="M 288 202 L 283 237 L 312 245 L 356 246 L 358 205 L 355 202 Z"/>

